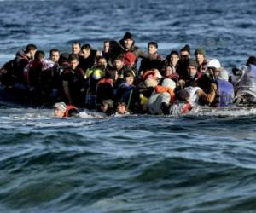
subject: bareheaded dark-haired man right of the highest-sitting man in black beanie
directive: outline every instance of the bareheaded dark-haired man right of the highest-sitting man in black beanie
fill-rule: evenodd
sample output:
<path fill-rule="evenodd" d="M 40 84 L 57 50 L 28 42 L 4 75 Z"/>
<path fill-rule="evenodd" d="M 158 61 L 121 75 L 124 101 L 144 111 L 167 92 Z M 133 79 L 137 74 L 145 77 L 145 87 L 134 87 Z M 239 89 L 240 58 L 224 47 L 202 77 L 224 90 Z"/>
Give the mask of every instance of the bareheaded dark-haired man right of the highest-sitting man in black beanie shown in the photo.
<path fill-rule="evenodd" d="M 141 61 L 141 66 L 139 68 L 140 75 L 143 75 L 143 72 L 146 72 L 151 69 L 158 69 L 161 68 L 161 63 L 164 60 L 162 55 L 158 54 L 158 43 L 156 42 L 149 42 L 148 43 L 148 55 L 151 56 L 151 59 L 143 59 Z"/>

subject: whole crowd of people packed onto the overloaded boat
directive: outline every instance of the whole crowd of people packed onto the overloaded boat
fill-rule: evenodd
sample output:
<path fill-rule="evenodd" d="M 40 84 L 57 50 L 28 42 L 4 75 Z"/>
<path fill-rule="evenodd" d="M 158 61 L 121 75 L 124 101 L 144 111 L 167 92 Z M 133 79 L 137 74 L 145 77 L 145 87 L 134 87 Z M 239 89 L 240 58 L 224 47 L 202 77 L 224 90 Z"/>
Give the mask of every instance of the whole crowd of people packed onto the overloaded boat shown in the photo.
<path fill-rule="evenodd" d="M 77 107 L 108 115 L 170 114 L 177 105 L 180 112 L 188 112 L 195 99 L 209 107 L 233 103 L 234 78 L 218 59 L 207 59 L 203 48 L 195 49 L 193 55 L 185 45 L 163 57 L 158 54 L 158 43 L 149 42 L 144 52 L 130 32 L 119 42 L 103 44 L 100 51 L 89 43 L 74 42 L 71 54 L 50 49 L 49 59 L 35 44 L 28 44 L 0 69 L 0 82 L 38 105 L 57 102 L 55 114 L 60 113 L 59 117 L 73 114 Z M 246 65 L 255 66 L 256 57 L 250 56 Z M 237 73 L 233 75 L 241 76 Z"/>

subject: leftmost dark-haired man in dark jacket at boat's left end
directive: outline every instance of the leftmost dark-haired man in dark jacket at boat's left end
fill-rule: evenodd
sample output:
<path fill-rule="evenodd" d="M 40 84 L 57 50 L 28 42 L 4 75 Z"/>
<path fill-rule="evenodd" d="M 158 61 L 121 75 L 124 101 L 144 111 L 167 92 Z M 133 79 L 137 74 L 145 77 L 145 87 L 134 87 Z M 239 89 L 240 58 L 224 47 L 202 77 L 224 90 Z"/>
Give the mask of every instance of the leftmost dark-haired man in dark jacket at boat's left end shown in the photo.
<path fill-rule="evenodd" d="M 26 49 L 16 53 L 14 60 L 5 63 L 0 69 L 1 83 L 7 87 L 24 89 L 23 71 L 29 61 L 34 59 L 37 49 L 35 44 L 27 44 Z"/>

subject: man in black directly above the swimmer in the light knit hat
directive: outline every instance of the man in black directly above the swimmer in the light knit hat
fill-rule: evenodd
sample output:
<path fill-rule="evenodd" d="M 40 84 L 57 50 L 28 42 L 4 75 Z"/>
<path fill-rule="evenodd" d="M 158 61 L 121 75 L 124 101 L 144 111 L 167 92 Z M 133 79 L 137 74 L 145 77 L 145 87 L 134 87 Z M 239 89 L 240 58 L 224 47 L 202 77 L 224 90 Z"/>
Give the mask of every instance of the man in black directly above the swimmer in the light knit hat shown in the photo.
<path fill-rule="evenodd" d="M 84 105 L 84 70 L 79 68 L 79 55 L 69 55 L 70 67 L 61 75 L 65 100 L 68 104 Z"/>

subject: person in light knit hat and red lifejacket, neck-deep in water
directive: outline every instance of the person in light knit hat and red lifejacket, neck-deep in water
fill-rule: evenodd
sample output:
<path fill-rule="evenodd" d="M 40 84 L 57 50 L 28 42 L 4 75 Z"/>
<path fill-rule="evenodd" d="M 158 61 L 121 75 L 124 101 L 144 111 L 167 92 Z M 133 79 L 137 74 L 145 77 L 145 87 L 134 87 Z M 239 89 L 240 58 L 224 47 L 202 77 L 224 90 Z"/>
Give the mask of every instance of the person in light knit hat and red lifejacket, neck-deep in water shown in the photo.
<path fill-rule="evenodd" d="M 73 105 L 66 105 L 64 102 L 57 102 L 54 105 L 55 117 L 67 118 L 73 117 L 79 113 L 79 109 Z"/>

